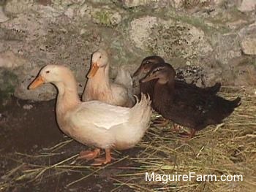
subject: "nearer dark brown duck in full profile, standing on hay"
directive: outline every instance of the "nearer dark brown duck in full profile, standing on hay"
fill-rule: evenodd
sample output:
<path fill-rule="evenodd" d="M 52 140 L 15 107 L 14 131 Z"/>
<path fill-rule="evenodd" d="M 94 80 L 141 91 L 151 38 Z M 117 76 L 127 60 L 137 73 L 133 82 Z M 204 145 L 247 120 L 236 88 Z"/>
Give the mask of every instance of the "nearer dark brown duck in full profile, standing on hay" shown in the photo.
<path fill-rule="evenodd" d="M 194 137 L 195 131 L 208 125 L 221 123 L 241 104 L 239 97 L 228 101 L 202 91 L 176 89 L 175 76 L 176 72 L 170 64 L 159 64 L 140 82 L 156 81 L 151 97 L 154 110 L 173 123 L 192 128 L 189 137 Z"/>

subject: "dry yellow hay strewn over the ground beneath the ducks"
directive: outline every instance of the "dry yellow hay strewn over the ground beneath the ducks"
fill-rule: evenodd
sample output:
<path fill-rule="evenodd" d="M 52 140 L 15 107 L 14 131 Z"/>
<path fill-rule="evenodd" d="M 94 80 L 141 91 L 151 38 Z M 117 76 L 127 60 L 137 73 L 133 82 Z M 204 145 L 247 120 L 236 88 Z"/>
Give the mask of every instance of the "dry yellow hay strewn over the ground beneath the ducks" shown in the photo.
<path fill-rule="evenodd" d="M 222 88 L 223 90 L 223 88 Z M 234 94 L 235 93 L 235 94 Z M 15 183 L 43 180 L 56 177 L 64 172 L 83 172 L 83 177 L 71 180 L 67 187 L 78 184 L 103 169 L 121 169 L 110 179 L 115 182 L 118 191 L 123 185 L 135 191 L 255 191 L 256 188 L 256 99 L 236 88 L 225 88 L 221 93 L 225 98 L 242 98 L 242 104 L 229 118 L 217 126 L 198 131 L 195 138 L 184 140 L 172 132 L 172 125 L 165 128 L 151 127 L 143 141 L 138 144 L 139 152 L 135 156 L 116 155 L 116 161 L 106 166 L 93 167 L 86 162 L 76 162 L 78 155 L 58 161 L 56 164 L 34 164 L 34 159 L 60 155 L 59 151 L 68 147 L 72 141 L 61 142 L 39 155 L 26 155 L 28 161 L 18 161 L 19 166 L 4 175 L 1 189 Z M 75 152 L 74 152 L 75 153 Z M 118 166 L 121 161 L 129 161 L 127 166 Z M 50 172 L 49 172 L 50 171 Z M 145 172 L 159 174 L 242 174 L 244 181 L 239 182 L 146 182 Z"/>

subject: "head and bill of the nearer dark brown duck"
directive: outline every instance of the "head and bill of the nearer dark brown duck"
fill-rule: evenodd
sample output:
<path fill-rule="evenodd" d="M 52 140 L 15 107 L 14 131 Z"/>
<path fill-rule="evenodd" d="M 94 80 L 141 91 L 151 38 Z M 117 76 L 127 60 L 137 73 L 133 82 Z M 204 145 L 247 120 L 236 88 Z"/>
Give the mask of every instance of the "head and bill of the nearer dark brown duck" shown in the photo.
<path fill-rule="evenodd" d="M 165 84 L 167 82 L 172 83 L 176 76 L 176 72 L 173 66 L 170 64 L 157 64 L 148 72 L 146 77 L 140 80 L 140 82 L 148 82 L 151 80 L 157 80 L 160 84 Z"/>

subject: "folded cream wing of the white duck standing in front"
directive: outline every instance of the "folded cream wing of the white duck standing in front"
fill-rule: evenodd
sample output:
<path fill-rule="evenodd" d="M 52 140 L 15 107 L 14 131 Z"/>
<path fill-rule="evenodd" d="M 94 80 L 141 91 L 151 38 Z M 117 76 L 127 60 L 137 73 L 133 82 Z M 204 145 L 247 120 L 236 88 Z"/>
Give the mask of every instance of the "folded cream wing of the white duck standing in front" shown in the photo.
<path fill-rule="evenodd" d="M 109 129 L 129 120 L 129 108 L 105 104 L 100 101 L 87 101 L 72 112 L 70 119 L 76 126 L 89 123 Z"/>

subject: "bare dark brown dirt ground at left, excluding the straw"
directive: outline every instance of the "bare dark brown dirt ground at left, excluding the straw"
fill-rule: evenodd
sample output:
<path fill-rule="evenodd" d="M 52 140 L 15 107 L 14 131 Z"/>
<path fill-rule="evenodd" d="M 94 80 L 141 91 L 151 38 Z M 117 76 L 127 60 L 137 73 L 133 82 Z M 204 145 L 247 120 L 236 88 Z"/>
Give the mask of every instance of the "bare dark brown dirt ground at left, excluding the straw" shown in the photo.
<path fill-rule="evenodd" d="M 110 166 L 106 170 L 103 169 L 91 174 L 90 177 L 68 188 L 66 185 L 78 180 L 88 172 L 94 171 L 94 169 L 99 169 L 99 167 L 87 167 L 84 172 L 72 172 L 72 170 L 61 172 L 59 170 L 60 174 L 57 174 L 59 171 L 49 170 L 37 180 L 29 177 L 27 179 L 20 178 L 22 182 L 18 180 L 14 182 L 13 179 L 21 175 L 13 170 L 17 166 L 23 166 L 22 169 L 19 167 L 22 171 L 31 169 L 29 164 L 48 166 L 86 149 L 85 146 L 72 141 L 68 147 L 61 147 L 61 150 L 56 150 L 56 153 L 52 151 L 49 153 L 50 147 L 70 140 L 61 133 L 56 124 L 54 104 L 55 100 L 34 103 L 12 98 L 2 110 L 0 121 L 0 185 L 8 184 L 6 185 L 7 188 L 1 187 L 0 191 L 111 191 L 116 188 L 115 181 L 111 180 L 110 177 L 123 172 L 118 166 L 127 166 L 129 161 L 121 161 L 121 163 L 115 164 L 115 167 Z M 28 110 L 26 108 L 28 106 L 32 108 Z M 121 156 L 135 153 L 136 149 L 127 150 Z M 42 155 L 42 158 L 38 158 L 37 155 Z M 78 164 L 88 166 L 90 162 L 79 161 Z M 7 174 L 9 174 L 8 177 Z M 133 190 L 123 186 L 116 191 Z"/>

